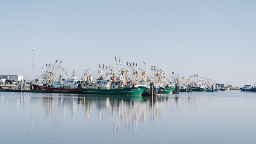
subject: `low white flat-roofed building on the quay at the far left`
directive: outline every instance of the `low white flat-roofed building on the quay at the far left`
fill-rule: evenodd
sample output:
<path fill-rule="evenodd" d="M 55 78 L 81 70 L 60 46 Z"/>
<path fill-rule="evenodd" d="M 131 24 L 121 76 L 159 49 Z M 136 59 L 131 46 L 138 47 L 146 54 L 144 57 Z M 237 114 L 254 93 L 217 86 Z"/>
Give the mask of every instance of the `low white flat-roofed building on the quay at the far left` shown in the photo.
<path fill-rule="evenodd" d="M 0 75 L 1 84 L 19 84 L 23 80 L 23 76 L 19 75 Z"/>

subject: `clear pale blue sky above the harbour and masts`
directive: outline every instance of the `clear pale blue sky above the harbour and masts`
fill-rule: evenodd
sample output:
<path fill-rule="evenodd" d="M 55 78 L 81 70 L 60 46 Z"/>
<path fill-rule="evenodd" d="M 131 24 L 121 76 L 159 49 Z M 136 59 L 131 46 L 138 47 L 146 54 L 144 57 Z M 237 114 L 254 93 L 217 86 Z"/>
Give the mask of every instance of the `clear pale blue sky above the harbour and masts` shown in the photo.
<path fill-rule="evenodd" d="M 207 76 L 217 83 L 256 82 L 256 1 L 0 0 L 0 74 L 32 79 L 62 60 L 84 68 L 146 61 L 167 75 Z M 15 70 L 16 69 L 16 70 Z"/>

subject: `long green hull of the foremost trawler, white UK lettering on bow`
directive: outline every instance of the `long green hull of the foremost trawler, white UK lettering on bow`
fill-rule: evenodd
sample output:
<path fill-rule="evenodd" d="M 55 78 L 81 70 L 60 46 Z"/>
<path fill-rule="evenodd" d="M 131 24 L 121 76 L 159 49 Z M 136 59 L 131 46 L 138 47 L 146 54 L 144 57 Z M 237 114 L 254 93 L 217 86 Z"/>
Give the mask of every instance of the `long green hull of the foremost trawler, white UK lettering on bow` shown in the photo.
<path fill-rule="evenodd" d="M 82 94 L 108 94 L 108 95 L 141 95 L 146 87 L 139 86 L 133 88 L 123 88 L 123 89 L 83 89 L 80 88 L 79 91 Z"/>

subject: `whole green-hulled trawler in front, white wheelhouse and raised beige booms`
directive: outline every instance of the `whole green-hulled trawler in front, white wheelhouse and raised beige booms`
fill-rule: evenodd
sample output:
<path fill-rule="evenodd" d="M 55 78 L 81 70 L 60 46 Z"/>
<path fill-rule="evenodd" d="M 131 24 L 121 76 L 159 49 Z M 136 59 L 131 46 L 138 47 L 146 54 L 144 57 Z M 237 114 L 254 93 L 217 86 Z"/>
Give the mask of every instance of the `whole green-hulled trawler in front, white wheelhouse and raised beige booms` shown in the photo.
<path fill-rule="evenodd" d="M 116 74 L 113 67 L 112 67 L 113 70 L 109 68 L 110 69 L 109 71 L 108 67 L 105 67 L 103 65 L 105 74 L 100 66 L 100 69 L 101 69 L 101 71 L 99 72 L 100 78 L 97 79 L 96 82 L 93 82 L 90 75 L 90 70 L 88 69 L 84 74 L 84 77 L 86 77 L 87 81 L 81 84 L 82 87 L 79 89 L 79 91 L 82 94 L 141 95 L 144 92 L 144 90 L 148 87 L 148 85 L 140 85 L 140 84 L 127 85 L 127 83 L 131 84 L 131 82 L 127 82 L 127 78 L 126 78 L 126 76 L 129 77 L 129 75 L 126 74 L 128 70 L 122 68 L 120 58 L 119 58 L 119 63 L 120 63 L 121 69 L 119 67 L 116 57 L 115 57 L 115 60 L 119 70 L 119 75 L 117 76 L 118 77 L 117 79 L 115 79 Z"/>

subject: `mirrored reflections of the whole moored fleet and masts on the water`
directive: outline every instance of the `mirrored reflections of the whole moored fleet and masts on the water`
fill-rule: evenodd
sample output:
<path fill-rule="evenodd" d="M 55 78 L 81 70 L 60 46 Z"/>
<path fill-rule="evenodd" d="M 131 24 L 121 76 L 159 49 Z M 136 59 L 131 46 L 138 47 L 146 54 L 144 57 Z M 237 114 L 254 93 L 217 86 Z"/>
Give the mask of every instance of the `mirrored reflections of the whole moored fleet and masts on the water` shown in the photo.
<path fill-rule="evenodd" d="M 113 134 L 119 131 L 136 131 L 140 126 L 144 129 L 145 122 L 154 123 L 168 111 L 178 111 L 180 105 L 197 110 L 200 106 L 209 105 L 217 98 L 207 97 L 174 97 L 157 96 L 152 99 L 148 96 L 113 96 L 113 95 L 68 95 L 68 94 L 42 94 L 42 97 L 2 96 L 1 107 L 8 108 L 8 104 L 17 103 L 18 110 L 30 107 L 29 132 L 33 131 L 33 114 L 41 113 L 50 125 L 60 126 L 63 117 L 81 116 L 88 124 L 90 115 L 97 114 L 98 123 L 112 123 Z M 40 111 L 38 111 L 38 108 Z M 95 120 L 95 117 L 94 119 Z"/>

